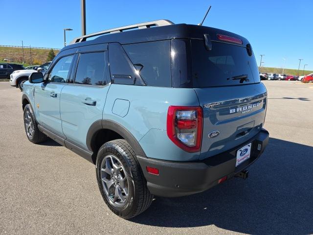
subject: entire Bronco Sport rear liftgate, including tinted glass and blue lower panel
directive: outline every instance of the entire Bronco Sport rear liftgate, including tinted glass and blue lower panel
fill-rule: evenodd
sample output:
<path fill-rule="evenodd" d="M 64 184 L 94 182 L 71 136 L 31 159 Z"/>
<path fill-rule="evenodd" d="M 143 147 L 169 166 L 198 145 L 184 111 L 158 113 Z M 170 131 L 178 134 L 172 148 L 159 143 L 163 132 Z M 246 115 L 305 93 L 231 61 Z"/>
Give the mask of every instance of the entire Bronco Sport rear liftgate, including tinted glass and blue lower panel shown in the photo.
<path fill-rule="evenodd" d="M 267 91 L 250 46 L 226 39 L 234 43 L 212 40 L 211 49 L 191 40 L 193 84 L 203 107 L 200 159 L 241 145 L 264 124 Z"/>

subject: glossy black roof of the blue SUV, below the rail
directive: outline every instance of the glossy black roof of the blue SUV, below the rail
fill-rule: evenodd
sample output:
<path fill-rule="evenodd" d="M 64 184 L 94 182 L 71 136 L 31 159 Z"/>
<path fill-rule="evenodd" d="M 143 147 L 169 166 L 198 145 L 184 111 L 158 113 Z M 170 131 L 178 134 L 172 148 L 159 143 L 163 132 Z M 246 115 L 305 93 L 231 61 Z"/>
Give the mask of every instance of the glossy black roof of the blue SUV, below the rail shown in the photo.
<path fill-rule="evenodd" d="M 226 36 L 241 39 L 243 41 L 244 46 L 246 46 L 246 44 L 249 43 L 246 40 L 246 38 L 222 29 L 192 24 L 172 24 L 166 26 L 129 30 L 120 33 L 110 33 L 103 36 L 98 36 L 93 40 L 68 45 L 67 47 L 64 47 L 62 50 L 74 47 L 82 47 L 94 44 L 113 43 L 113 42 L 115 43 L 118 42 L 120 44 L 132 44 L 177 38 L 203 39 L 204 33 L 208 33 L 211 37 L 211 40 L 219 40 L 217 38 L 217 34 L 223 34 Z"/>

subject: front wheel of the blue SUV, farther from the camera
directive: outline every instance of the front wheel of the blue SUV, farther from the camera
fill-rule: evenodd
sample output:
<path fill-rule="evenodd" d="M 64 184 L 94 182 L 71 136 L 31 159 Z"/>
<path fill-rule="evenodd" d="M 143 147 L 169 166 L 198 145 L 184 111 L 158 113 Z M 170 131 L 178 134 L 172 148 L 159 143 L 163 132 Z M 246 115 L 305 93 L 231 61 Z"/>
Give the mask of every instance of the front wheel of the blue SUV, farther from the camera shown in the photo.
<path fill-rule="evenodd" d="M 32 143 L 40 143 L 47 139 L 47 136 L 38 129 L 38 123 L 30 104 L 24 108 L 24 127 L 27 138 Z"/>

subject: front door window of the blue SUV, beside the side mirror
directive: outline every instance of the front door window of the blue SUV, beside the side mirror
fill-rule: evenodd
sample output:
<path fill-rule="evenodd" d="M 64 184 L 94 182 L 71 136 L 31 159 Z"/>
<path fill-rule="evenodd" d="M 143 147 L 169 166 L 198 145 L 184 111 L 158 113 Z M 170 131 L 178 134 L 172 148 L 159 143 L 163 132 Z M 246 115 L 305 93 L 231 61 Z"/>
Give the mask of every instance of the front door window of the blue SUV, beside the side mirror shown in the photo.
<path fill-rule="evenodd" d="M 66 82 L 68 71 L 74 55 L 62 57 L 53 67 L 48 75 L 50 82 Z"/>

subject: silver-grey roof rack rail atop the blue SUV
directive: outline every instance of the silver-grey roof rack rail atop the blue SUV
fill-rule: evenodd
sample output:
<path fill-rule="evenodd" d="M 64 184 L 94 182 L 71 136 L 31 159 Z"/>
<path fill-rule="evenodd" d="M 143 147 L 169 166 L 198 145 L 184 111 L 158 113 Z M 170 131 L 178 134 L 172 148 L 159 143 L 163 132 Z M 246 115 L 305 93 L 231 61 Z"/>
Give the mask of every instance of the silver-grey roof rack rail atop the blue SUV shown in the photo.
<path fill-rule="evenodd" d="M 112 29 L 103 30 L 103 31 L 96 32 L 96 33 L 90 33 L 90 34 L 87 34 L 87 35 L 84 35 L 81 37 L 74 38 L 69 43 L 69 45 L 74 44 L 74 43 L 85 42 L 87 38 L 100 36 L 103 34 L 120 33 L 120 32 L 123 32 L 125 30 L 134 29 L 134 28 L 142 29 L 142 28 L 150 28 L 153 26 L 164 26 L 164 25 L 171 25 L 171 24 L 174 24 L 174 23 L 171 21 L 168 21 L 168 20 L 158 20 L 158 21 L 150 21 L 150 22 L 139 23 L 139 24 L 132 24 L 132 25 L 122 26 L 122 27 L 118 27 L 118 28 L 112 28 Z"/>

